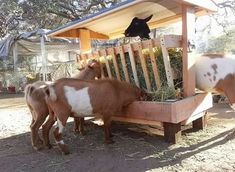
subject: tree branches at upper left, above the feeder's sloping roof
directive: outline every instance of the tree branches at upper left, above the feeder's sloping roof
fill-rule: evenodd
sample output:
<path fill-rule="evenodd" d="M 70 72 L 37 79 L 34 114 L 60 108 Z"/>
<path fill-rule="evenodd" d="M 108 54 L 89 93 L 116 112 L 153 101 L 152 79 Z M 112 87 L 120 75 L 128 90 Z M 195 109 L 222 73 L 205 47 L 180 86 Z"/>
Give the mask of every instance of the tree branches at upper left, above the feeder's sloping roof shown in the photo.
<path fill-rule="evenodd" d="M 0 0 L 0 38 L 38 28 L 53 29 L 123 0 Z"/>

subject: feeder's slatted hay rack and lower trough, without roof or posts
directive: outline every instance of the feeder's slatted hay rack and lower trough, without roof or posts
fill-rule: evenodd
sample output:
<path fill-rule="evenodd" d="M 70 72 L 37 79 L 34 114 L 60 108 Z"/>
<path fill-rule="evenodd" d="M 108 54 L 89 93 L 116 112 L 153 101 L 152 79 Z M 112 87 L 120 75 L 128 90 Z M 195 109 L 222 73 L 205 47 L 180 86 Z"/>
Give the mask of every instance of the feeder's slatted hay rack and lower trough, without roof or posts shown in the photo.
<path fill-rule="evenodd" d="M 160 47 L 162 52 L 164 52 L 163 59 L 167 82 L 169 86 L 173 86 L 173 76 L 171 72 L 168 48 L 182 48 L 182 37 L 178 35 L 165 35 L 161 38 L 98 50 L 93 53 L 80 55 L 78 61 L 86 61 L 90 58 L 98 60 L 103 59 L 103 64 L 107 70 L 108 77 L 125 80 L 126 82 L 131 82 L 130 72 L 128 72 L 128 68 L 130 67 L 134 80 L 132 82 L 142 87 L 137 75 L 137 56 L 134 55 L 138 54 L 146 87 L 150 92 L 154 90 L 154 88 L 152 88 L 152 84 L 150 82 L 150 75 L 148 72 L 149 68 L 147 68 L 146 64 L 147 58 L 150 58 L 151 60 L 154 82 L 157 88 L 161 87 L 159 69 L 156 62 L 157 57 L 155 57 L 154 54 L 154 48 L 157 47 Z M 148 52 L 147 56 L 144 54 L 144 50 L 145 52 Z M 127 64 L 126 56 L 130 58 L 130 64 Z M 118 57 L 121 59 L 123 76 L 121 76 L 121 71 L 118 67 Z M 112 74 L 113 72 L 110 64 L 113 64 L 114 66 L 115 76 Z M 113 117 L 113 120 L 163 127 L 166 141 L 176 143 L 181 135 L 182 124 L 193 122 L 194 128 L 204 128 L 204 113 L 211 107 L 212 95 L 209 93 L 200 93 L 186 97 L 182 100 L 175 100 L 173 102 L 139 101 L 128 106 L 123 114 Z"/>

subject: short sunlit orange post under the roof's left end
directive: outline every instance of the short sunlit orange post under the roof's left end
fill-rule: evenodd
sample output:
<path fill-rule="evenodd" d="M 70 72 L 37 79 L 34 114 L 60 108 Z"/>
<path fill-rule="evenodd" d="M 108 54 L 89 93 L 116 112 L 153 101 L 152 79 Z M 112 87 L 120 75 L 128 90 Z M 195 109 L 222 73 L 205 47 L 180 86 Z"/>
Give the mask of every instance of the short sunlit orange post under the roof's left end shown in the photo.
<path fill-rule="evenodd" d="M 81 53 L 91 52 L 91 34 L 90 30 L 78 29 L 80 38 L 80 51 Z"/>

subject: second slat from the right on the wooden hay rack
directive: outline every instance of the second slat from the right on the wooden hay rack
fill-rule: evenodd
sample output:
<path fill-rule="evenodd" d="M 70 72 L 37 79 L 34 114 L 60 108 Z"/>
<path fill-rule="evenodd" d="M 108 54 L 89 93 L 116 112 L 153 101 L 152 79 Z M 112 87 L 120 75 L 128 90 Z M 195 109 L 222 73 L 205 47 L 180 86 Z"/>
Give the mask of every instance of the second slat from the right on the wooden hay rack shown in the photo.
<path fill-rule="evenodd" d="M 157 61 L 155 58 L 155 54 L 153 52 L 153 44 L 151 40 L 149 40 L 149 55 L 150 55 L 151 64 L 153 67 L 155 83 L 156 83 L 157 89 L 159 89 L 161 87 L 161 80 L 160 80 L 160 75 L 158 73 Z"/>

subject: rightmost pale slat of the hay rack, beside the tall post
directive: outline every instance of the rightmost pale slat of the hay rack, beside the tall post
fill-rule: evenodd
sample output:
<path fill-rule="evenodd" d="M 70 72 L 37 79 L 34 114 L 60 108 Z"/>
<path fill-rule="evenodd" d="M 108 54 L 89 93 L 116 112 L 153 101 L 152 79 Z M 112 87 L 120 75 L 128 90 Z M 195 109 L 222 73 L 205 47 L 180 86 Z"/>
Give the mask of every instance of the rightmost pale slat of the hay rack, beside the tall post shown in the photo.
<path fill-rule="evenodd" d="M 165 67 L 165 72 L 166 72 L 167 84 L 169 87 L 172 87 L 174 89 L 170 56 L 169 56 L 168 50 L 166 49 L 166 46 L 165 46 L 164 37 L 161 37 L 161 49 L 162 49 L 163 62 L 164 62 L 164 67 Z"/>

